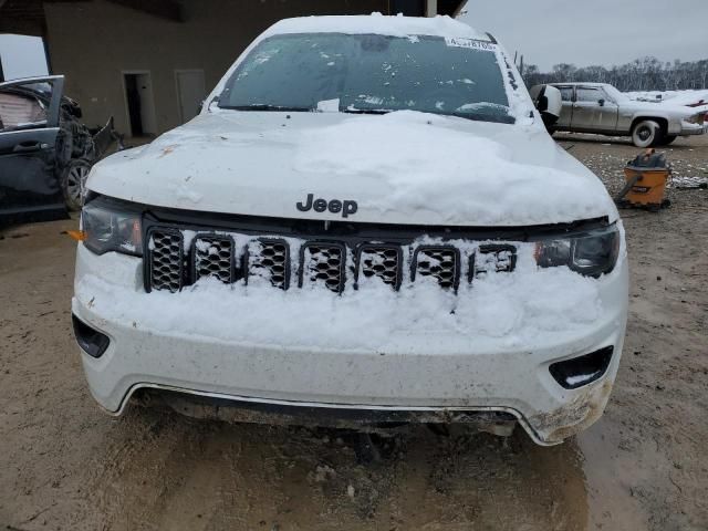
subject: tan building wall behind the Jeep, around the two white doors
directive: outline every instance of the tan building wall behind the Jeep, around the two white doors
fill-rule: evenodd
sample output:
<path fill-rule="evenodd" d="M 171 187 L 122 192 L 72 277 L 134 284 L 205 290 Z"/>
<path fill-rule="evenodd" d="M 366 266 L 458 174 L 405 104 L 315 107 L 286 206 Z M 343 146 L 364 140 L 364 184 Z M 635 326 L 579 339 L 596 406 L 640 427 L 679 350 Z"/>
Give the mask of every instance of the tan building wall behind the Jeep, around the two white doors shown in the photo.
<path fill-rule="evenodd" d="M 261 31 L 309 14 L 388 11 L 388 0 L 185 0 L 173 22 L 105 0 L 45 3 L 52 71 L 66 75 L 88 125 L 115 117 L 129 132 L 124 71 L 149 71 L 158 132 L 179 125 L 175 70 L 205 71 L 207 92 Z"/>

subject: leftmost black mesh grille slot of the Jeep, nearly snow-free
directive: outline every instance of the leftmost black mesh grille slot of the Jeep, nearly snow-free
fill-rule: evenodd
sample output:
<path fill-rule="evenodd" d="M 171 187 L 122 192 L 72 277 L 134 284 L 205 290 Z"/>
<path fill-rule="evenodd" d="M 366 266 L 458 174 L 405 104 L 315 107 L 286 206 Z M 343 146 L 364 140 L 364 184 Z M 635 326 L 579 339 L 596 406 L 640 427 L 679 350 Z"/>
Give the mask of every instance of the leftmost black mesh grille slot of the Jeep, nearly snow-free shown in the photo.
<path fill-rule="evenodd" d="M 183 238 L 178 230 L 154 230 L 149 238 L 149 271 L 153 290 L 181 289 Z"/>

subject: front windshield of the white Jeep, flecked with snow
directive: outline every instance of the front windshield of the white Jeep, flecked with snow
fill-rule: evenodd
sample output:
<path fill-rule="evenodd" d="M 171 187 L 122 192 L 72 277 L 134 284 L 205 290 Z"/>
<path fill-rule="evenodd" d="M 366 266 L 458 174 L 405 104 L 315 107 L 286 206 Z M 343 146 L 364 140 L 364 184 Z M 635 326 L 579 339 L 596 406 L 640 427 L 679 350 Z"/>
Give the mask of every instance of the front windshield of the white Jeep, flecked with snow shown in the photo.
<path fill-rule="evenodd" d="M 514 122 L 497 46 L 440 37 L 271 37 L 227 81 L 219 107 L 372 114 L 408 110 Z"/>

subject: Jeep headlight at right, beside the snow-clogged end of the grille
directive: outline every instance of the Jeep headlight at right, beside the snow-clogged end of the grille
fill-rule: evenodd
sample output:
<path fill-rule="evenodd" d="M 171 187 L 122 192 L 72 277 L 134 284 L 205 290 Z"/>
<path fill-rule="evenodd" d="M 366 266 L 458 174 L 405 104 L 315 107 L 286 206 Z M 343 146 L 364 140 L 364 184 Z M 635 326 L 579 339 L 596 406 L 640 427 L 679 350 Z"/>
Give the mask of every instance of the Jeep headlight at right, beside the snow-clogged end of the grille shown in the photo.
<path fill-rule="evenodd" d="M 615 225 L 573 237 L 538 241 L 535 261 L 541 268 L 568 266 L 585 277 L 610 273 L 620 254 L 620 231 Z"/>

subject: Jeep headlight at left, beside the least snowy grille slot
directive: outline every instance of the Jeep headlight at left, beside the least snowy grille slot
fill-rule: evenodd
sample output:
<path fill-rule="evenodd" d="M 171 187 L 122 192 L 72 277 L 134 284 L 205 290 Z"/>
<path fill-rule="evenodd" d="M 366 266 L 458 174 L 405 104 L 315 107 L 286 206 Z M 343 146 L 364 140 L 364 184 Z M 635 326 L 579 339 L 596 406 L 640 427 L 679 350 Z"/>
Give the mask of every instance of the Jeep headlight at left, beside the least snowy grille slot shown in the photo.
<path fill-rule="evenodd" d="M 84 246 L 96 254 L 110 251 L 143 256 L 140 211 L 129 205 L 97 198 L 81 211 Z"/>

